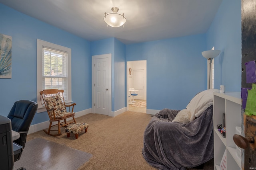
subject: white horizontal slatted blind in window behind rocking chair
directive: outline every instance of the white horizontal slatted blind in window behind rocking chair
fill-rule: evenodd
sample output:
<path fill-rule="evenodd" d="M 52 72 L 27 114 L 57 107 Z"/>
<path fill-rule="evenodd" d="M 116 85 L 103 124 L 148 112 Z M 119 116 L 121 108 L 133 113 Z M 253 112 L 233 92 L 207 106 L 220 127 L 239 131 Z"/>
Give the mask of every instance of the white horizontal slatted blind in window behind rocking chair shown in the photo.
<path fill-rule="evenodd" d="M 68 53 L 43 46 L 42 50 L 42 87 L 43 89 L 63 89 L 67 100 Z"/>

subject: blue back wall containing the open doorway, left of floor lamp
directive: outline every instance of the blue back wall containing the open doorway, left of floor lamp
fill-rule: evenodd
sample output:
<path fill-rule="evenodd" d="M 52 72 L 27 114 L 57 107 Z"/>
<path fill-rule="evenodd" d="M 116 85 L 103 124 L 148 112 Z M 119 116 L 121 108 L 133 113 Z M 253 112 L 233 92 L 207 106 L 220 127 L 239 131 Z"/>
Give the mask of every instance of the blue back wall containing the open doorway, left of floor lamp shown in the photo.
<path fill-rule="evenodd" d="M 126 45 L 126 61 L 147 60 L 147 109 L 185 109 L 206 90 L 206 35 Z"/>

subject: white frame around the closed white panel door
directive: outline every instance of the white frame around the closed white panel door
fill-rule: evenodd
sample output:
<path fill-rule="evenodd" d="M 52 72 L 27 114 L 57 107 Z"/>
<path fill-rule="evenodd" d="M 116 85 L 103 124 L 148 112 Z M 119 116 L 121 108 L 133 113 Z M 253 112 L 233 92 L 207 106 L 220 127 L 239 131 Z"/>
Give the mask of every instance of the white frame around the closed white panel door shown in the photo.
<path fill-rule="evenodd" d="M 103 54 L 103 55 L 93 55 L 92 56 L 92 113 L 95 113 L 95 82 L 94 82 L 94 76 L 95 76 L 95 72 L 94 72 L 94 64 L 96 59 L 104 59 L 107 58 L 107 64 L 109 67 L 109 72 L 108 72 L 108 113 L 106 115 L 110 115 L 111 111 L 112 111 L 112 54 Z"/>

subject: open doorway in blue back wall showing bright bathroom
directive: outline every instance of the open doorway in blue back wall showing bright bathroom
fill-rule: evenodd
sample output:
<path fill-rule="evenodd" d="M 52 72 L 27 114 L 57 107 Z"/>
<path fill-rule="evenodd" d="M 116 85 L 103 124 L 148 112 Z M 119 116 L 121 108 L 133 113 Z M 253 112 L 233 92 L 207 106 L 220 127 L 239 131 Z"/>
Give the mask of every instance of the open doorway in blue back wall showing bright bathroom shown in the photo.
<path fill-rule="evenodd" d="M 146 60 L 127 62 L 127 110 L 146 113 L 146 67 Z"/>

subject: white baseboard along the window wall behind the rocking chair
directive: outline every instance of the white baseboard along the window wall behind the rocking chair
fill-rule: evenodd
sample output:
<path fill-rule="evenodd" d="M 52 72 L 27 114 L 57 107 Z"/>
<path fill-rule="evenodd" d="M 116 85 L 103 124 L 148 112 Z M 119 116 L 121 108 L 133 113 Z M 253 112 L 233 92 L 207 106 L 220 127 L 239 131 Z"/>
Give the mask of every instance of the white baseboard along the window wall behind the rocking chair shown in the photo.
<path fill-rule="evenodd" d="M 86 115 L 88 113 L 92 113 L 92 109 L 91 108 L 76 112 L 75 118 L 80 117 L 82 115 Z M 71 119 L 72 119 L 72 117 L 68 118 L 67 121 L 69 121 Z M 49 121 L 44 121 L 42 123 L 31 125 L 29 127 L 28 134 L 34 133 L 34 132 L 37 132 L 37 131 L 41 131 L 43 129 L 48 128 L 49 127 L 49 123 L 50 123 Z M 53 122 L 52 123 L 52 125 L 55 125 L 55 124 L 57 124 L 57 122 Z"/>

